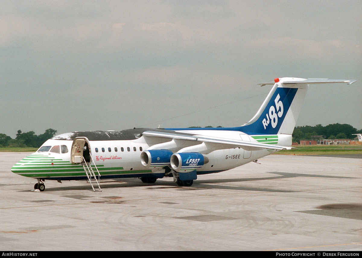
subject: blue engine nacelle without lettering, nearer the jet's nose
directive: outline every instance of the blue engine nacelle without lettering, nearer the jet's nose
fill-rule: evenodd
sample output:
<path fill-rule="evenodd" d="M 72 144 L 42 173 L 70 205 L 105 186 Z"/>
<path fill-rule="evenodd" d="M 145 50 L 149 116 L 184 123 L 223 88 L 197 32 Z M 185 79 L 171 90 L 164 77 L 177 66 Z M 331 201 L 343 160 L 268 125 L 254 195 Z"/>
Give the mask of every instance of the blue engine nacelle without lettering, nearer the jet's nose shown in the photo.
<path fill-rule="evenodd" d="M 141 153 L 141 163 L 146 168 L 163 168 L 170 165 L 173 152 L 167 149 L 150 149 Z"/>

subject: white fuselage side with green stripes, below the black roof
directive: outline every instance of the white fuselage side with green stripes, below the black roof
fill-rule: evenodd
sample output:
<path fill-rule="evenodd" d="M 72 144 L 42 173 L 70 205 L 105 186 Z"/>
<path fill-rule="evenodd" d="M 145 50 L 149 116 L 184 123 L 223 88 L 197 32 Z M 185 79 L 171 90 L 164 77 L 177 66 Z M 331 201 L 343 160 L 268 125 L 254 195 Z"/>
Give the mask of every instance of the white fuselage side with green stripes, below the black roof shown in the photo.
<path fill-rule="evenodd" d="M 212 136 L 213 138 L 227 138 L 252 142 L 266 142 L 290 146 L 290 135 L 247 135 L 240 131 L 213 131 L 213 130 L 183 130 L 182 133 L 192 133 L 201 136 Z M 57 137 L 55 137 L 57 138 Z M 85 138 L 85 137 L 84 137 Z M 254 139 L 255 138 L 255 139 Z M 266 140 L 268 139 L 268 140 Z M 77 180 L 86 179 L 82 166 L 73 164 L 71 153 L 73 140 L 47 140 L 42 147 L 49 146 L 48 151 L 41 151 L 42 147 L 32 155 L 19 161 L 13 166 L 12 171 L 17 174 L 32 178 L 53 180 Z M 157 146 L 163 148 L 174 145 L 173 152 L 200 152 L 208 158 L 209 162 L 201 168 L 196 169 L 197 174 L 217 173 L 241 166 L 248 162 L 257 160 L 275 152 L 273 149 L 261 148 L 224 148 L 218 149 L 216 145 L 205 145 L 204 143 L 185 144 L 183 141 L 172 143 L 170 139 L 150 139 L 141 136 L 132 140 L 88 140 L 89 153 L 97 166 L 101 178 L 142 177 L 145 174 L 157 174 L 162 177 L 164 170 L 152 170 L 142 165 L 140 156 L 147 149 L 155 149 Z M 64 145 L 67 152 L 62 153 Z M 59 146 L 59 148 L 54 148 Z M 156 148 L 156 149 L 159 149 Z M 55 149 L 58 152 L 52 151 Z M 161 176 L 160 176 L 161 174 Z"/>

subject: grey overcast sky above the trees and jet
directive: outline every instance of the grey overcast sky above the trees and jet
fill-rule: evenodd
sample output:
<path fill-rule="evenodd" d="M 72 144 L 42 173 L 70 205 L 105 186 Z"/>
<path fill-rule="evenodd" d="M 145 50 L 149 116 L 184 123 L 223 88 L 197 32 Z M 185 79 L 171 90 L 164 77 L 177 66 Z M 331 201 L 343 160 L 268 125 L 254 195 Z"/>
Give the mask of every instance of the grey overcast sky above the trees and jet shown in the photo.
<path fill-rule="evenodd" d="M 275 77 L 298 126 L 362 128 L 362 1 L 0 2 L 0 133 L 240 126 Z"/>

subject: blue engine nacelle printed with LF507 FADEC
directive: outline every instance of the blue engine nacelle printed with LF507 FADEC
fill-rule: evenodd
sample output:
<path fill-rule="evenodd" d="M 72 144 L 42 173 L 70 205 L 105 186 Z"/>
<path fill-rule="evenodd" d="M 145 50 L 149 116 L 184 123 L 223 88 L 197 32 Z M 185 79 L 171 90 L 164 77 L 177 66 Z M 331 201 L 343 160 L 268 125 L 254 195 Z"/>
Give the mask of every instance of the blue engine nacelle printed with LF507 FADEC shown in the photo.
<path fill-rule="evenodd" d="M 171 156 L 171 167 L 176 172 L 191 172 L 207 162 L 209 159 L 198 152 L 174 153 Z"/>

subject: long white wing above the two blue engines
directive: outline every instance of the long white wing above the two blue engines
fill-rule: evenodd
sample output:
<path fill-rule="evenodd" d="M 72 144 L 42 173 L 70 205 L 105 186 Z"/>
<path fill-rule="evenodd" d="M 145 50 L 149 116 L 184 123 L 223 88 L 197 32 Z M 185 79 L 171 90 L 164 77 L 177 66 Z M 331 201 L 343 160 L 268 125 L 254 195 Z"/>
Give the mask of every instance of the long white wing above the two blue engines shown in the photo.
<path fill-rule="evenodd" d="M 279 146 L 279 145 L 270 145 L 264 143 L 257 143 L 251 141 L 242 141 L 235 139 L 226 139 L 226 138 L 216 138 L 210 136 L 202 135 L 189 135 L 182 133 L 171 133 L 171 132 L 162 132 L 162 131 L 145 131 L 142 134 L 146 137 L 156 137 L 156 138 L 169 138 L 172 140 L 186 140 L 186 141 L 197 141 L 200 143 L 211 143 L 211 144 L 220 144 L 226 145 L 223 149 L 227 148 L 236 148 L 241 147 L 243 149 L 276 149 L 276 150 L 290 150 L 291 147 Z"/>

